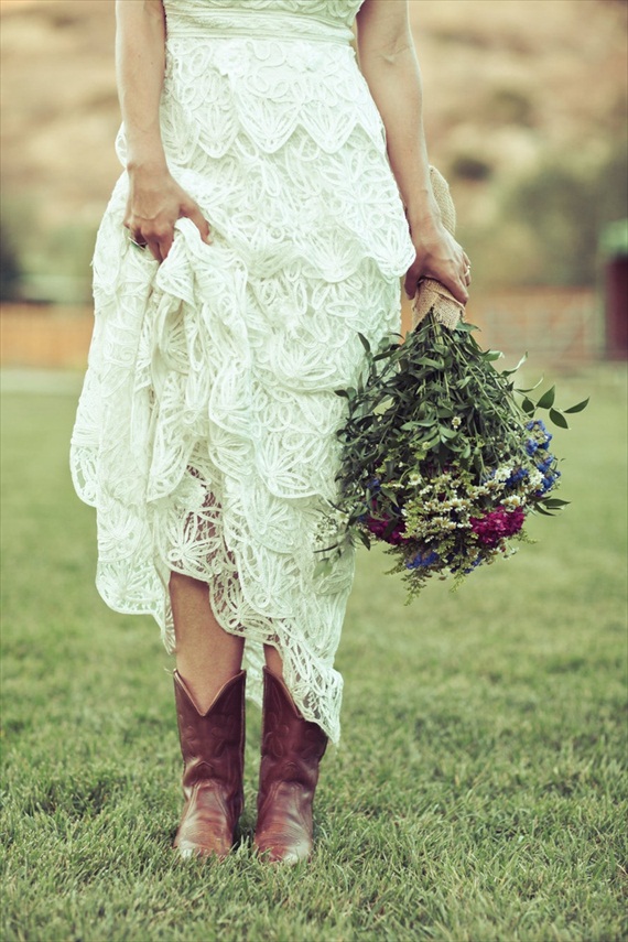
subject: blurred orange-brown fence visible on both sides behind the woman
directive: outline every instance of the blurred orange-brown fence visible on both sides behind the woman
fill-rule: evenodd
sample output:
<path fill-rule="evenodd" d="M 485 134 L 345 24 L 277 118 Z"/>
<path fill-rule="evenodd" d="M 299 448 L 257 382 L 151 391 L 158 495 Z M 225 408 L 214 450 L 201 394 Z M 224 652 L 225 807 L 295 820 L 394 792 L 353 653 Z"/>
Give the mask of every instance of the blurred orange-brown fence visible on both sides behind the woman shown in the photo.
<path fill-rule="evenodd" d="M 481 329 L 481 346 L 534 361 L 578 364 L 604 353 L 600 297 L 589 289 L 533 288 L 472 297 L 467 320 Z M 410 305 L 403 302 L 403 323 Z M 1 364 L 83 369 L 94 320 L 76 306 L 6 304 L 0 313 Z"/>

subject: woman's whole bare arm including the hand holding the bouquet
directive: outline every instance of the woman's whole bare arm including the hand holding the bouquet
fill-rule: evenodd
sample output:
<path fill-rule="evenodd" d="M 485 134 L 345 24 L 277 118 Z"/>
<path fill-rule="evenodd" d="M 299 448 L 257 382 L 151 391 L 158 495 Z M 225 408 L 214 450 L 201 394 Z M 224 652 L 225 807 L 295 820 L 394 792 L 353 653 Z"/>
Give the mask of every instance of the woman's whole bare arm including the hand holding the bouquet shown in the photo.
<path fill-rule="evenodd" d="M 432 193 L 421 73 L 407 0 L 365 0 L 357 24 L 360 68 L 386 128 L 390 165 L 416 249 L 405 292 L 412 297 L 419 279 L 430 275 L 465 304 L 468 258 L 444 228 Z"/>

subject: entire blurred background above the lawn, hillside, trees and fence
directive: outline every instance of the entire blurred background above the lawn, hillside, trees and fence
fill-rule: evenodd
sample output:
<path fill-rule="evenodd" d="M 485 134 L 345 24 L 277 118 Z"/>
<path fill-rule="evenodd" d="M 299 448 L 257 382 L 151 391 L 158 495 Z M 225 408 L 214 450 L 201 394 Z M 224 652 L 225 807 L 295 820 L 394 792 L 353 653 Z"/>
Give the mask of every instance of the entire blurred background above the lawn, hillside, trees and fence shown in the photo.
<path fill-rule="evenodd" d="M 2 364 L 83 368 L 120 172 L 113 0 L 0 0 Z M 486 346 L 627 356 L 626 0 L 410 0 Z"/>

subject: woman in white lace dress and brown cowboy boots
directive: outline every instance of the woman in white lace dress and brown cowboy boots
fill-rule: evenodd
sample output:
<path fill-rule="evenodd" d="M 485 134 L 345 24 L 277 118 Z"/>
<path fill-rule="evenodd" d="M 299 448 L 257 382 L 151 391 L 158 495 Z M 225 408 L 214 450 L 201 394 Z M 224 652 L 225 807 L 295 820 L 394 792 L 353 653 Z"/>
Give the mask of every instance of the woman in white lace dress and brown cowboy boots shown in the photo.
<path fill-rule="evenodd" d="M 175 846 L 232 844 L 246 658 L 258 702 L 263 674 L 255 845 L 296 863 L 339 736 L 354 569 L 347 551 L 315 574 L 334 390 L 364 368 L 358 332 L 399 329 L 400 275 L 465 303 L 468 259 L 431 192 L 403 0 L 117 0 L 117 20 L 126 170 L 94 258 L 74 480 L 101 595 L 176 652 Z"/>

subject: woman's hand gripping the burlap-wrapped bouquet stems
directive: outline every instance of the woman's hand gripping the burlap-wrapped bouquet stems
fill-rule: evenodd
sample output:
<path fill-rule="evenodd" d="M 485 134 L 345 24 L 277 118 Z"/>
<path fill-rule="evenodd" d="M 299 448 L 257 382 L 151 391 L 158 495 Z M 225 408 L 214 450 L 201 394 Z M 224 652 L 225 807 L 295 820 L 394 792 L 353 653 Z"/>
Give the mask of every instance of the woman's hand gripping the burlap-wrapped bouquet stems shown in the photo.
<path fill-rule="evenodd" d="M 408 269 L 403 288 L 409 297 L 416 294 L 422 278 L 433 278 L 447 288 L 456 301 L 466 304 L 470 284 L 470 262 L 442 223 L 430 220 L 411 226 L 416 258 Z"/>

